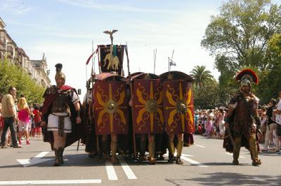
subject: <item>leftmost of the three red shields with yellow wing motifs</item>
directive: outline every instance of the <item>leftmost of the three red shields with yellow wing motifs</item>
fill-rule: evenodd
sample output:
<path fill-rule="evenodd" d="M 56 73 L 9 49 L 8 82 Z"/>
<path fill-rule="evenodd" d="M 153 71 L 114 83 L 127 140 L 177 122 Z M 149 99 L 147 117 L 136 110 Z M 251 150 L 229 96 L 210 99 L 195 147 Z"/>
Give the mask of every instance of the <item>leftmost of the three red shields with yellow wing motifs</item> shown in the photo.
<path fill-rule="evenodd" d="M 126 83 L 98 80 L 93 99 L 96 134 L 127 134 L 128 102 Z"/>

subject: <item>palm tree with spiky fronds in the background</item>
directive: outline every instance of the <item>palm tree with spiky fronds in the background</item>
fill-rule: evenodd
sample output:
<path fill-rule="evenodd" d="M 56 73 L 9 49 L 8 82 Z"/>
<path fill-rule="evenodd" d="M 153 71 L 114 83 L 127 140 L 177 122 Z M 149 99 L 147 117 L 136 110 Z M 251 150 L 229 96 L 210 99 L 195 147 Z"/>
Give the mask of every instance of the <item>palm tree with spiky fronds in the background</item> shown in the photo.
<path fill-rule="evenodd" d="M 194 79 L 196 86 L 202 88 L 205 83 L 212 80 L 214 76 L 211 75 L 211 71 L 206 70 L 206 66 L 195 66 L 190 72 L 190 76 Z"/>

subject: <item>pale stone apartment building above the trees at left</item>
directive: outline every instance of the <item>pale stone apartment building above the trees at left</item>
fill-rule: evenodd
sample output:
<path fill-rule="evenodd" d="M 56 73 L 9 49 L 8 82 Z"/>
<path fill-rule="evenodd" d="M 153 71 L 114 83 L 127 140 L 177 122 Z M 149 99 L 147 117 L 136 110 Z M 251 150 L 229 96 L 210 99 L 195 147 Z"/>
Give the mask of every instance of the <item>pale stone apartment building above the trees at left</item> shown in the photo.
<path fill-rule="evenodd" d="M 25 50 L 16 45 L 5 27 L 6 24 L 0 17 L 0 59 L 6 57 L 13 64 L 22 66 L 22 69 L 27 71 L 39 85 L 43 87 L 50 86 L 51 80 L 48 78 L 49 71 L 45 55 L 43 54 L 42 59 L 31 60 L 25 53 Z"/>

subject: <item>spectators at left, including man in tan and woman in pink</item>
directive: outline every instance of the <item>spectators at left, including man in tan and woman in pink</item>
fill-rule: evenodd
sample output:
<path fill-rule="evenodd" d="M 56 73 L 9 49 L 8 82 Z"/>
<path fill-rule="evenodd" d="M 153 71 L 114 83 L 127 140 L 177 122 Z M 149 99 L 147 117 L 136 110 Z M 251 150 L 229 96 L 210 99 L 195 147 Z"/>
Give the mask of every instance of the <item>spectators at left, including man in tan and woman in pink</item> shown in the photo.
<path fill-rule="evenodd" d="M 24 95 L 18 101 L 16 92 L 9 87 L 8 94 L 0 95 L 1 148 L 22 148 L 22 140 L 30 145 L 30 136 L 41 136 L 39 104 L 28 106 Z"/>

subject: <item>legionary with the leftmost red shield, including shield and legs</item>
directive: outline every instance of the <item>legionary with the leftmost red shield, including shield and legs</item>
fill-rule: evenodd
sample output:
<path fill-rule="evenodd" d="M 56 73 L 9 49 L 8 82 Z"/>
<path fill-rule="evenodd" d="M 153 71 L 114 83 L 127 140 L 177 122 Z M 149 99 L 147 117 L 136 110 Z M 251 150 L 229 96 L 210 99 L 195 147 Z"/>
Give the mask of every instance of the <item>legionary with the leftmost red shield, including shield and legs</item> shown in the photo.
<path fill-rule="evenodd" d="M 117 164 L 117 136 L 118 134 L 128 134 L 129 93 L 127 92 L 127 80 L 114 72 L 100 73 L 96 76 L 93 90 L 95 129 L 96 135 L 102 136 L 103 159 L 109 158 L 110 146 L 111 162 Z"/>

